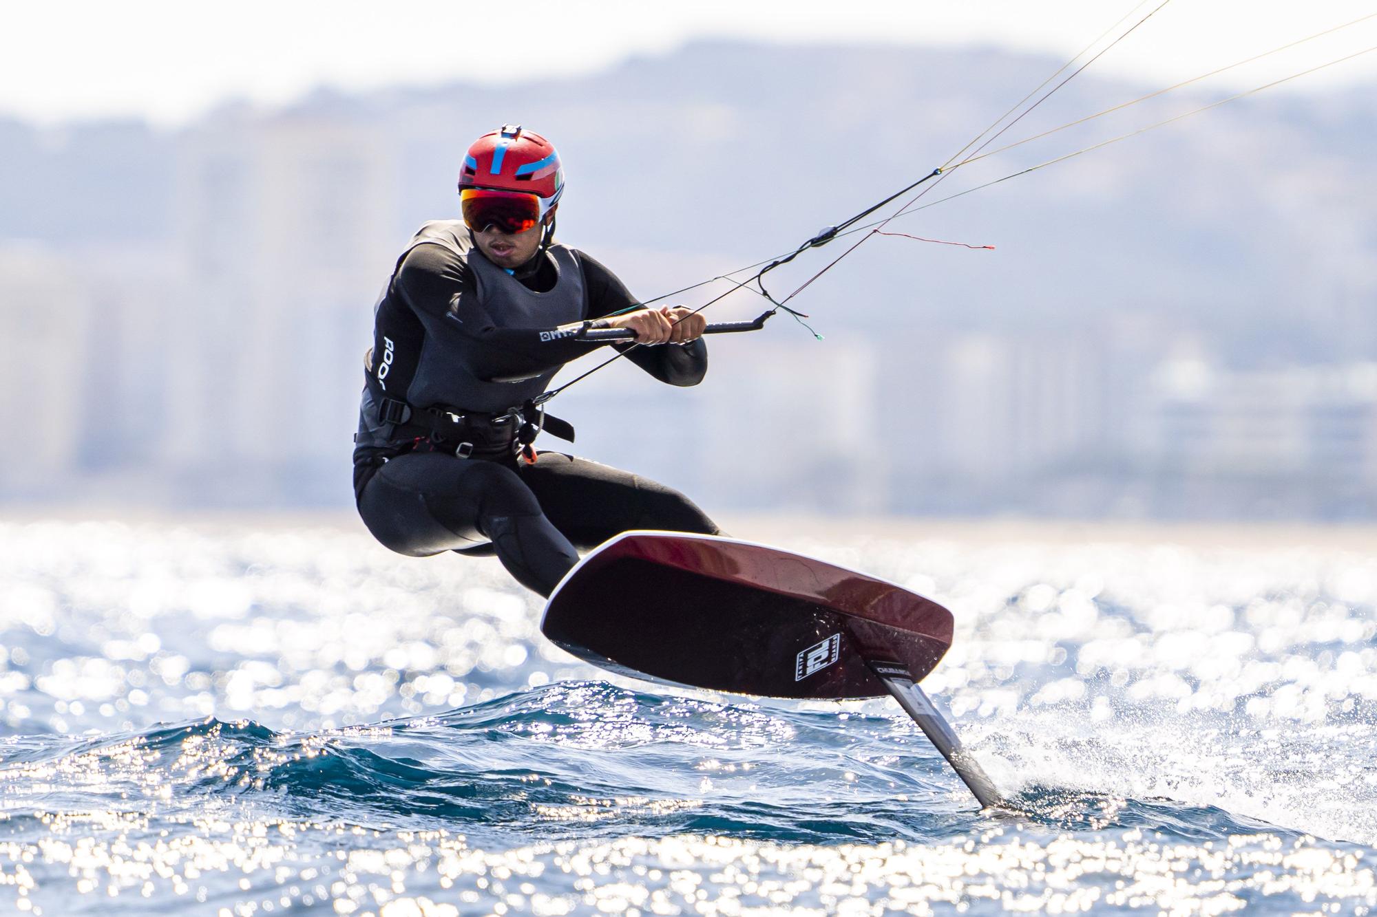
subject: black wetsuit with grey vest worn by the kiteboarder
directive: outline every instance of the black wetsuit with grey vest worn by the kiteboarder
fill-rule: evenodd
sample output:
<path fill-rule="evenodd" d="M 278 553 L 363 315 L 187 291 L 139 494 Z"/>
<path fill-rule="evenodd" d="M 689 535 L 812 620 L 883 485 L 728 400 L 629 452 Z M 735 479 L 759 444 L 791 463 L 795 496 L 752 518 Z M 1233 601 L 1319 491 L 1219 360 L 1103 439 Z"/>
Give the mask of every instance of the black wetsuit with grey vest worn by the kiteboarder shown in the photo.
<path fill-rule="evenodd" d="M 519 282 L 519 286 L 516 285 Z M 519 460 L 511 421 L 478 424 L 471 457 L 454 442 L 387 423 L 387 399 L 456 414 L 501 414 L 544 391 L 569 359 L 596 344 L 560 335 L 636 300 L 582 252 L 551 246 L 514 275 L 472 245 L 459 222 L 427 223 L 398 259 L 375 313 L 373 350 L 354 449 L 359 515 L 386 547 L 410 556 L 492 552 L 525 587 L 549 595 L 591 548 L 628 529 L 719 534 L 683 494 L 558 452 Z M 694 386 L 704 341 L 636 347 L 655 379 Z M 516 383 L 494 379 L 525 376 Z M 392 405 L 395 408 L 395 405 Z M 463 449 L 461 449 L 463 452 Z"/>

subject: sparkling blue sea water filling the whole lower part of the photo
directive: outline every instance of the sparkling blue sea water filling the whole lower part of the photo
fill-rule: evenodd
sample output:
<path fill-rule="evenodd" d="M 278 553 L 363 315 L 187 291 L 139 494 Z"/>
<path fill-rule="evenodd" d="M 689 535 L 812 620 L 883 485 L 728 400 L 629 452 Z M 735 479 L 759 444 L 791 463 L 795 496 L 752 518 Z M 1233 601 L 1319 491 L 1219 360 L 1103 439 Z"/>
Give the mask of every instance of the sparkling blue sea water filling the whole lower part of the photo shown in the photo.
<path fill-rule="evenodd" d="M 956 613 L 924 686 L 1016 811 L 892 701 L 584 665 L 493 560 L 0 525 L 0 913 L 1377 906 L 1371 556 L 934 529 L 785 547 Z"/>

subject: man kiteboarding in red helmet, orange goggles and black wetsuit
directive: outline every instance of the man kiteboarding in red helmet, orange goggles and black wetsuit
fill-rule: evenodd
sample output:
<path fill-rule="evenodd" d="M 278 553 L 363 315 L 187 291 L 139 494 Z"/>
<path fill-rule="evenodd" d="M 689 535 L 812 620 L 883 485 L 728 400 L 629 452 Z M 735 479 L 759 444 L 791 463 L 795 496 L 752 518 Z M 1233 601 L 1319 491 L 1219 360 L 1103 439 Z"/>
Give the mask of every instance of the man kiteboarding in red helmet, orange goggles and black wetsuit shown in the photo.
<path fill-rule="evenodd" d="M 354 494 L 368 530 L 409 556 L 496 554 L 549 595 L 592 548 L 631 529 L 720 534 L 683 494 L 560 452 L 573 438 L 536 398 L 559 368 L 621 328 L 627 358 L 671 386 L 708 369 L 705 319 L 642 308 L 584 252 L 555 242 L 565 189 L 555 147 L 522 127 L 479 138 L 459 179 L 463 220 L 425 223 L 375 307 L 354 436 Z M 629 310 L 629 311 L 628 311 Z M 627 417 L 628 432 L 639 417 Z"/>

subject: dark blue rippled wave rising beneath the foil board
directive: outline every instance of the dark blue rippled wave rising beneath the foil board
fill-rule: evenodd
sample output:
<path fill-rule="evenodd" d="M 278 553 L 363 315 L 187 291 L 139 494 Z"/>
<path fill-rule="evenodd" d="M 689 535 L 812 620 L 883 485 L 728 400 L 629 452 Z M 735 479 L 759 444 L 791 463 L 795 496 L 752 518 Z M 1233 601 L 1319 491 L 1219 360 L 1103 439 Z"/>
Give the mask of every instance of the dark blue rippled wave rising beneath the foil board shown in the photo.
<path fill-rule="evenodd" d="M 1281 830 L 1223 808 L 1026 783 L 979 812 L 902 717 L 565 682 L 446 713 L 318 732 L 213 717 L 11 742 L 4 811 L 317 821 L 485 839 L 726 833 L 923 841 L 1019 818 L 1206 840 Z"/>

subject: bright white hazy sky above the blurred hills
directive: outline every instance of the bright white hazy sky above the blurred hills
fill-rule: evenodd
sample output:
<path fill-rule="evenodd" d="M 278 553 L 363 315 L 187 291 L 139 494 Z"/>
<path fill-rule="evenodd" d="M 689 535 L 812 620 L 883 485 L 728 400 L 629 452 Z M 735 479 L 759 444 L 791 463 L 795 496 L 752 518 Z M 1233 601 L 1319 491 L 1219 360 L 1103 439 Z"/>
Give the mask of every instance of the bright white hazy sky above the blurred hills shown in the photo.
<path fill-rule="evenodd" d="M 1142 6 L 1140 18 L 1161 0 Z M 6 4 L 0 114 L 178 124 L 229 98 L 285 102 L 321 85 L 587 73 L 695 37 L 778 43 L 994 44 L 1069 58 L 1136 0 L 66 0 Z M 1147 84 L 1198 76 L 1377 12 L 1377 0 L 1170 0 L 1095 63 Z M 1377 45 L 1377 19 L 1224 78 L 1250 88 Z M 1297 80 L 1374 83 L 1377 52 Z M 1159 87 L 1157 87 L 1159 88 Z"/>

